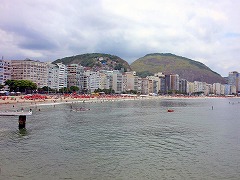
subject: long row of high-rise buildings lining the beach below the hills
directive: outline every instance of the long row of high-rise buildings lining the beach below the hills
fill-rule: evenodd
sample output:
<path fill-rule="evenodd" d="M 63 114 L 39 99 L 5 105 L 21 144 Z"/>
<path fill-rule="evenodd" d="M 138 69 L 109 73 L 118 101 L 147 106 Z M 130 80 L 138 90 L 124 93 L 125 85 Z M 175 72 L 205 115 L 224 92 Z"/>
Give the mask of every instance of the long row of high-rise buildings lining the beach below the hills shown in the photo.
<path fill-rule="evenodd" d="M 33 60 L 0 60 L 0 84 L 6 80 L 31 80 L 38 88 L 48 86 L 59 91 L 64 87 L 77 86 L 79 92 L 92 93 L 95 89 L 113 89 L 115 93 L 137 92 L 139 94 L 204 94 L 232 95 L 240 90 L 239 73 L 229 73 L 227 84 L 188 82 L 178 74 L 156 73 L 140 78 L 136 72 L 123 70 L 92 71 L 78 64 L 68 66 Z"/>

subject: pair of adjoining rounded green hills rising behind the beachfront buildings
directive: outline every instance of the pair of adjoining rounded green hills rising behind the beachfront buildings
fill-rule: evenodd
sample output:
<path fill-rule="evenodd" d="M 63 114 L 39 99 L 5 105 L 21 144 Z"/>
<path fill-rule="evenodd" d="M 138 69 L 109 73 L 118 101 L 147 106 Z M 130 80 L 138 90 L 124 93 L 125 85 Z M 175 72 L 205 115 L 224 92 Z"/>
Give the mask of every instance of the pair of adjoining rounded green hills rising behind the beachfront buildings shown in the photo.
<path fill-rule="evenodd" d="M 124 68 L 124 71 L 136 71 L 139 76 L 143 75 L 141 77 L 163 72 L 164 74 L 179 74 L 181 79 L 186 79 L 190 82 L 226 83 L 222 76 L 203 63 L 171 53 L 147 54 L 135 60 L 131 65 L 118 56 L 103 53 L 88 53 L 64 57 L 52 63 L 59 62 L 65 65 L 79 64 L 96 71 L 121 70 Z"/>

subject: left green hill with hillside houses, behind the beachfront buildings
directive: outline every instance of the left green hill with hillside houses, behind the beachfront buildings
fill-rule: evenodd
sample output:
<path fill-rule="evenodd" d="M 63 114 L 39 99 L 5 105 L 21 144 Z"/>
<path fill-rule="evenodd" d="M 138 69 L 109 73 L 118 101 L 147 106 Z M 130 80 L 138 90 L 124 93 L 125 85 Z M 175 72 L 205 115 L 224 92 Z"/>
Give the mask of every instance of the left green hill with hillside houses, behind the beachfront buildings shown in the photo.
<path fill-rule="evenodd" d="M 90 67 L 93 70 L 121 70 L 131 71 L 130 65 L 118 56 L 102 53 L 88 53 L 71 57 L 65 57 L 53 61 L 53 64 L 62 62 L 65 65 L 79 64 Z"/>

